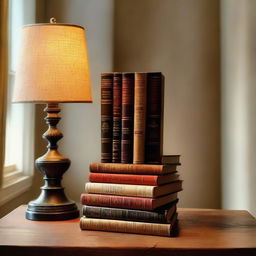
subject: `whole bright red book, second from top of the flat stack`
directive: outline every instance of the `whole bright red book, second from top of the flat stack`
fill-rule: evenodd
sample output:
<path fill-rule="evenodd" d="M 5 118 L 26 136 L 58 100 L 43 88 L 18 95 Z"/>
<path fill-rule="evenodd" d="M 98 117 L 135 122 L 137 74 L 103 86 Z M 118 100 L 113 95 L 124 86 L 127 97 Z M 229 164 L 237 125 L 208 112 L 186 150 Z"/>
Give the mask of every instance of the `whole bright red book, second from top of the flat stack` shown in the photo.
<path fill-rule="evenodd" d="M 171 183 L 179 179 L 177 172 L 166 175 L 140 175 L 140 174 L 113 174 L 113 173 L 93 173 L 89 174 L 90 182 L 119 183 L 134 185 L 159 186 Z"/>

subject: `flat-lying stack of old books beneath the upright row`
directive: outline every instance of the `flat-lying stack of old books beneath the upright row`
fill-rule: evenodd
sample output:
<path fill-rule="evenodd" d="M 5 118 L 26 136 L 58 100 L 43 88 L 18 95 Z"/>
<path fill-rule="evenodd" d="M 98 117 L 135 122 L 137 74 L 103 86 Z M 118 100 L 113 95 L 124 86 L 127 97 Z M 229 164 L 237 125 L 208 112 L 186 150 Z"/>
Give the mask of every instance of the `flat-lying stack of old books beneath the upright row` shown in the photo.
<path fill-rule="evenodd" d="M 81 195 L 81 229 L 173 236 L 182 190 L 179 156 L 163 164 L 92 163 Z"/>

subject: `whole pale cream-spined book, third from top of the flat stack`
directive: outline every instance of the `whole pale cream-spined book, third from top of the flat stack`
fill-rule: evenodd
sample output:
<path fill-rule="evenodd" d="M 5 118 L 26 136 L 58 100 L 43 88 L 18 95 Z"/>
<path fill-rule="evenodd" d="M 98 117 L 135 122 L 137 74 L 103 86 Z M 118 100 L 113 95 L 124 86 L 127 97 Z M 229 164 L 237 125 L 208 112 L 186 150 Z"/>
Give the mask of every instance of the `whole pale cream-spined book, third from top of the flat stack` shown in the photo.
<path fill-rule="evenodd" d="M 85 184 L 85 192 L 89 194 L 105 194 L 117 196 L 135 197 L 160 197 L 182 190 L 182 181 L 178 180 L 161 186 L 128 185 L 113 183 L 93 183 Z"/>

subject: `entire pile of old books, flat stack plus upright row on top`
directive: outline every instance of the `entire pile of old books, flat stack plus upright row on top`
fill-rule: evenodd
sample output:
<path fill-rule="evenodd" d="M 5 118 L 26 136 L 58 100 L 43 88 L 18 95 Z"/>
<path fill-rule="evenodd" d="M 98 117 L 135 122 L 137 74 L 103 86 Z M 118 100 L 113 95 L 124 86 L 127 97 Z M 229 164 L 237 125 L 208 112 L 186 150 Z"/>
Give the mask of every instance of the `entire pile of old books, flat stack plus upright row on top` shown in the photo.
<path fill-rule="evenodd" d="M 101 163 L 81 195 L 82 230 L 173 236 L 179 155 L 163 156 L 161 72 L 101 74 Z"/>

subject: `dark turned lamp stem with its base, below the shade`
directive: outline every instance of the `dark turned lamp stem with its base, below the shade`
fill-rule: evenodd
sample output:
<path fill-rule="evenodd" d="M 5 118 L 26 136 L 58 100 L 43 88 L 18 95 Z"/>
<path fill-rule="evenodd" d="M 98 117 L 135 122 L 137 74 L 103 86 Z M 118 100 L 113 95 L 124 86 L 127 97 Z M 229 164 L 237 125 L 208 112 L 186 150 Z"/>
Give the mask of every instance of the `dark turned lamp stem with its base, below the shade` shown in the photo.
<path fill-rule="evenodd" d="M 70 166 L 70 160 L 61 155 L 57 148 L 57 142 L 63 137 L 57 129 L 60 121 L 58 103 L 48 103 L 44 109 L 48 130 L 43 138 L 48 141 L 47 152 L 36 160 L 36 167 L 42 173 L 45 184 L 41 187 L 39 197 L 31 201 L 26 211 L 26 218 L 31 220 L 64 220 L 79 216 L 78 209 L 73 201 L 70 201 L 61 186 L 61 179 Z"/>

